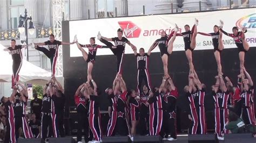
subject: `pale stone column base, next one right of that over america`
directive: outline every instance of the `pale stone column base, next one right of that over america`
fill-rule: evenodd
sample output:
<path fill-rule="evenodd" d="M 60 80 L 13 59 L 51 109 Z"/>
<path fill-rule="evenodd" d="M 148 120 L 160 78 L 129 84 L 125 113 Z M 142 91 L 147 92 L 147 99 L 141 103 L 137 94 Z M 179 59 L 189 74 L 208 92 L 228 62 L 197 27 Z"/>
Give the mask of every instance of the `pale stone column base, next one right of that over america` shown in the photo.
<path fill-rule="evenodd" d="M 199 2 L 201 1 L 201 9 L 204 10 L 207 8 L 207 1 L 206 0 L 184 0 L 183 2 L 183 9 L 198 9 L 199 10 Z"/>

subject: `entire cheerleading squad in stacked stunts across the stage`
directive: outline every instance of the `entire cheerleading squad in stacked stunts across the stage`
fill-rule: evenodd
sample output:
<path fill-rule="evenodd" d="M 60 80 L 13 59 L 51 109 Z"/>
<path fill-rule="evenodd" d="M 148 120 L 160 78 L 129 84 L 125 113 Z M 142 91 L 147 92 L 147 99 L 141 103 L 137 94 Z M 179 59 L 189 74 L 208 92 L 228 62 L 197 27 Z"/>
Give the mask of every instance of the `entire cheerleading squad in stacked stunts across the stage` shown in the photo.
<path fill-rule="evenodd" d="M 154 41 L 149 51 L 145 53 L 144 48 L 139 49 L 123 37 L 123 30 L 117 30 L 118 37 L 106 38 L 100 32 L 97 35 L 99 41 L 106 46 L 95 43 L 95 38 L 90 38 L 90 44 L 79 44 L 77 36 L 73 42 L 62 42 L 55 40 L 54 35 L 50 35 L 50 40 L 43 43 L 32 44 L 38 51 L 43 52 L 51 60 L 52 78 L 45 84 L 43 89 L 43 99 L 35 99 L 31 102 L 30 120 L 26 118 L 26 103 L 28 91 L 26 87 L 18 82 L 18 73 L 22 66 L 21 49 L 26 46 L 16 45 L 15 40 L 11 40 L 11 47 L 4 49 L 9 51 L 13 59 L 12 76 L 12 95 L 1 99 L 0 108 L 3 121 L 6 126 L 4 141 L 16 142 L 23 132 L 24 138 L 43 138 L 64 137 L 63 116 L 64 116 L 64 89 L 55 78 L 55 66 L 58 56 L 59 45 L 77 44 L 82 52 L 84 60 L 88 63 L 87 81 L 81 84 L 75 92 L 75 103 L 78 112 L 78 131 L 77 142 L 82 142 L 82 130 L 86 142 L 102 141 L 102 131 L 100 123 L 99 96 L 103 95 L 97 87 L 96 81 L 92 78 L 93 63 L 96 61 L 98 48 L 110 48 L 117 59 L 117 75 L 114 78 L 113 86 L 105 89 L 109 99 L 109 123 L 107 125 L 106 137 L 113 135 L 128 135 L 133 141 L 136 134 L 140 135 L 160 135 L 163 140 L 177 140 L 176 132 L 176 101 L 179 96 L 178 89 L 174 85 L 168 73 L 168 57 L 172 54 L 173 42 L 176 36 L 183 36 L 185 53 L 190 67 L 188 75 L 188 85 L 184 87 L 190 112 L 187 118 L 191 120 L 188 128 L 189 134 L 206 134 L 206 115 L 205 115 L 205 90 L 206 85 L 201 83 L 192 62 L 193 49 L 196 47 L 197 34 L 212 37 L 214 55 L 217 61 L 218 74 L 215 76 L 216 82 L 212 85 L 212 97 L 215 109 L 215 134 L 219 140 L 224 139 L 224 134 L 238 132 L 255 133 L 254 115 L 254 91 L 253 81 L 250 74 L 244 67 L 244 56 L 249 49 L 245 40 L 246 29 L 241 31 L 233 27 L 233 33 L 223 31 L 223 21 L 220 26 L 214 25 L 213 33 L 197 32 L 198 20 L 190 30 L 189 25 L 185 25 L 185 32 L 178 33 L 180 30 L 175 24 L 173 31 L 167 35 L 161 32 L 161 38 Z M 222 34 L 228 35 L 235 40 L 238 46 L 240 59 L 240 73 L 238 84 L 234 86 L 230 78 L 226 76 L 221 68 L 220 53 L 223 50 Z M 114 42 L 114 45 L 112 42 Z M 125 44 L 131 46 L 137 58 L 138 84 L 137 89 L 128 90 L 124 78 L 122 77 L 122 63 L 124 58 Z M 48 45 L 48 48 L 41 47 Z M 164 76 L 159 87 L 152 87 L 149 73 L 149 58 L 151 51 L 158 46 L 160 56 L 163 61 Z M 87 53 L 83 47 L 89 49 Z M 145 85 L 142 90 L 142 83 Z M 230 105 L 233 108 L 230 108 Z M 41 120 L 41 121 L 40 121 Z M 251 125 L 247 130 L 247 126 Z M 137 128 L 140 128 L 137 132 Z M 1 128 L 0 128 L 1 130 Z"/>

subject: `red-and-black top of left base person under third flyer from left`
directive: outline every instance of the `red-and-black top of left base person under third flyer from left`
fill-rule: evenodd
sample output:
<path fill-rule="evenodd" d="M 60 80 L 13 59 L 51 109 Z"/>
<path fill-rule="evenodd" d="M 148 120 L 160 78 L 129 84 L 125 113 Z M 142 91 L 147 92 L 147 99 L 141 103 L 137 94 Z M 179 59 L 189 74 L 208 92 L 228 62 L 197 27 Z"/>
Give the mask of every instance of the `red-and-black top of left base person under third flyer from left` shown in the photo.
<path fill-rule="evenodd" d="M 87 99 L 84 96 L 75 96 L 75 103 L 77 106 L 77 112 L 86 113 L 88 112 L 86 108 Z"/>

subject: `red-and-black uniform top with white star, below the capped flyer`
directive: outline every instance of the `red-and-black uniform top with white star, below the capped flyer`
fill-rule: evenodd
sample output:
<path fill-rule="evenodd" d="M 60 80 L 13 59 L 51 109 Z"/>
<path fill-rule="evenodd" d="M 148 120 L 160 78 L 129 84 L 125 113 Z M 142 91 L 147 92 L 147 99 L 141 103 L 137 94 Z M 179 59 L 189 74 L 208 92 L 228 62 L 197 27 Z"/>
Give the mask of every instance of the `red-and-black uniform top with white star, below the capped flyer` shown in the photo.
<path fill-rule="evenodd" d="M 119 95 L 117 99 L 117 114 L 118 118 L 125 118 L 126 112 L 126 101 L 127 101 L 127 91 L 124 91 L 121 95 Z"/>

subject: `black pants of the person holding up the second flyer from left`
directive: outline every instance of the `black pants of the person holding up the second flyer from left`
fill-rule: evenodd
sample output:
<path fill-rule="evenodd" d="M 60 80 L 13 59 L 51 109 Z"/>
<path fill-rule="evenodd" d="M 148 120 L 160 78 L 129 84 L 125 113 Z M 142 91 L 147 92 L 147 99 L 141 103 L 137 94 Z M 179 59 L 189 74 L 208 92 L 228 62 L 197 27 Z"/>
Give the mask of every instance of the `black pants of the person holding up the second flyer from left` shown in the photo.
<path fill-rule="evenodd" d="M 49 127 L 49 131 L 48 131 Z M 52 118 L 51 113 L 43 113 L 42 116 L 42 139 L 50 138 L 53 136 L 53 130 L 52 130 Z"/>

